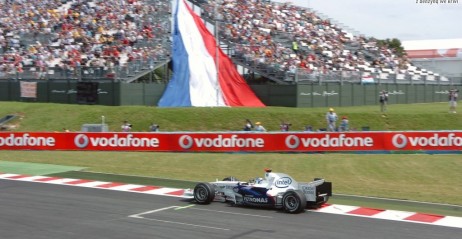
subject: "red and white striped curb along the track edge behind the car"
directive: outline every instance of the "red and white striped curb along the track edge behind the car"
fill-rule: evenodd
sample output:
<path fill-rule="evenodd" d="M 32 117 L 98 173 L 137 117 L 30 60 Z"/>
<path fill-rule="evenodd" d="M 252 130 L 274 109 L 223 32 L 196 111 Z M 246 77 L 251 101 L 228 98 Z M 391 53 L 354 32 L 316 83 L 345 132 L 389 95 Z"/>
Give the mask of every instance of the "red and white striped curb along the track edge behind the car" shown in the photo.
<path fill-rule="evenodd" d="M 183 197 L 183 193 L 184 193 L 184 189 L 178 189 L 178 188 L 167 188 L 167 187 L 125 184 L 125 183 L 115 183 L 115 182 L 102 182 L 102 181 L 93 181 L 93 180 L 85 180 L 85 179 L 57 178 L 57 177 L 47 177 L 47 176 L 29 176 L 29 175 L 20 175 L 20 174 L 11 174 L 11 173 L 0 173 L 0 179 L 37 182 L 37 183 L 60 184 L 60 185 L 89 187 L 89 188 L 98 188 L 98 189 L 108 189 L 108 190 L 155 194 L 155 195 L 163 195 L 163 196 L 171 196 L 171 197 Z M 332 204 L 332 205 L 326 204 L 319 209 L 310 210 L 310 211 L 462 228 L 462 217 L 442 216 L 442 215 L 404 212 L 404 211 L 395 211 L 395 210 L 383 210 L 383 209 L 346 206 L 346 205 L 338 205 L 338 204 Z"/>

